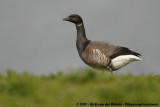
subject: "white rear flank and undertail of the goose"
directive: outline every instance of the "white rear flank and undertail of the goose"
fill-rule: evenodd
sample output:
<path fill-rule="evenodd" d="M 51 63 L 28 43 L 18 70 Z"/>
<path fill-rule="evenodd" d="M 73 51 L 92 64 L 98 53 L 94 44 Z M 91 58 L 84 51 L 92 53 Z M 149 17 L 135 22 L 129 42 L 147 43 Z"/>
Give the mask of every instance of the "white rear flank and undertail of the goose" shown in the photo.
<path fill-rule="evenodd" d="M 137 57 L 135 55 L 121 55 L 121 56 L 118 56 L 118 57 L 112 59 L 112 66 L 115 69 L 119 69 L 119 68 L 124 67 L 127 64 L 133 62 L 133 61 L 141 61 L 141 60 L 142 59 L 140 59 L 139 57 Z"/>

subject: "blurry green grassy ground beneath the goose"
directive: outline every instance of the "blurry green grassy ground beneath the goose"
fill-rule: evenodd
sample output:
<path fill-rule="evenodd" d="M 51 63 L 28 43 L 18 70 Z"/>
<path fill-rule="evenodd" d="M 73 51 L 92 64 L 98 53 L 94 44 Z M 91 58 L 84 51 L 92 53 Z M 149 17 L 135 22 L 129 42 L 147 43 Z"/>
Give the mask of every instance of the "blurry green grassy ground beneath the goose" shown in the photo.
<path fill-rule="evenodd" d="M 0 74 L 0 107 L 130 107 L 132 104 L 159 107 L 160 76 L 111 75 L 90 69 L 48 76 L 18 74 L 12 70 Z"/>

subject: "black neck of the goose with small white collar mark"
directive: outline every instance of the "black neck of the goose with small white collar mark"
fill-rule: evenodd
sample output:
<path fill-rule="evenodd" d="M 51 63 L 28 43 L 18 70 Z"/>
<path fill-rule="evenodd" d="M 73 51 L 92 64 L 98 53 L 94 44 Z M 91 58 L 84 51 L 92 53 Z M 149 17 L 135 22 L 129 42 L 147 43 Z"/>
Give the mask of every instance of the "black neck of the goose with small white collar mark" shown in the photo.
<path fill-rule="evenodd" d="M 77 28 L 76 46 L 78 49 L 78 53 L 81 56 L 82 52 L 85 50 L 87 44 L 89 43 L 89 40 L 86 38 L 83 22 L 80 24 L 76 24 L 76 28 Z"/>

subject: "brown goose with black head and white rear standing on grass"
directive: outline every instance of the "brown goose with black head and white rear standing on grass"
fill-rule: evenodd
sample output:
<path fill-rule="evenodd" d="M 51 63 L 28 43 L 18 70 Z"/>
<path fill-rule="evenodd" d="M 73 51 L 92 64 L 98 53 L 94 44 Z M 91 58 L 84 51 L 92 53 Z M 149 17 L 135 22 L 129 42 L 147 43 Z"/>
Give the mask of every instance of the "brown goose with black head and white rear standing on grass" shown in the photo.
<path fill-rule="evenodd" d="M 142 60 L 139 53 L 131 51 L 127 47 L 87 39 L 83 20 L 78 14 L 71 14 L 63 20 L 76 25 L 76 47 L 80 58 L 88 66 L 112 73 L 112 71 L 116 71 L 133 61 Z"/>

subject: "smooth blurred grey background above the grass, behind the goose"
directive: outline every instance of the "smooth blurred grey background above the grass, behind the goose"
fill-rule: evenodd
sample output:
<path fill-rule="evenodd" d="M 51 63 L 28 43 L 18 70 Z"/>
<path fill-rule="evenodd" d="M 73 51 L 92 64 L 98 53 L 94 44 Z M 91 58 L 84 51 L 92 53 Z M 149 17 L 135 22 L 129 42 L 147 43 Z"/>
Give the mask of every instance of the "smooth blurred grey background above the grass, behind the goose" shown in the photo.
<path fill-rule="evenodd" d="M 159 0 L 0 0 L 0 72 L 49 74 L 88 67 L 76 49 L 74 24 L 82 16 L 86 35 L 142 54 L 119 73 L 160 74 Z"/>

